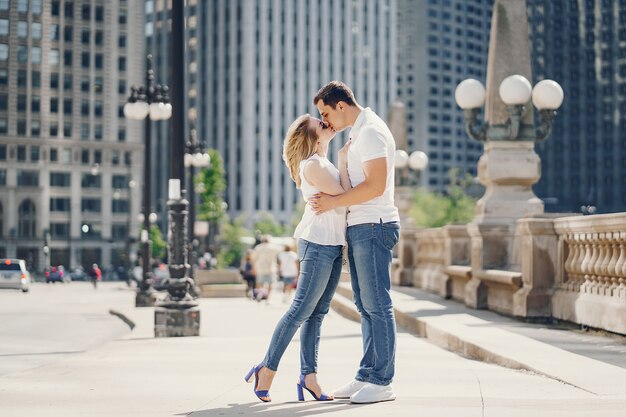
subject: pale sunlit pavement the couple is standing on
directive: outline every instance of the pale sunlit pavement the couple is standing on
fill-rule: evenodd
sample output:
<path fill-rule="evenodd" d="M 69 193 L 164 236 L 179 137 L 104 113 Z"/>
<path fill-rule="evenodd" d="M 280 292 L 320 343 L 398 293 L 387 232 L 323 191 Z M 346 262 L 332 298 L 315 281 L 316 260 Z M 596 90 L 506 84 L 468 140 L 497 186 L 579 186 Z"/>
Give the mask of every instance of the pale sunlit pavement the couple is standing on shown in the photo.
<path fill-rule="evenodd" d="M 394 297 L 398 307 L 406 305 L 407 314 L 418 311 L 415 303 L 425 302 L 399 292 Z M 116 309 L 135 324 L 132 331 L 72 358 L 0 377 L 0 415 L 626 416 L 624 394 L 598 395 L 535 373 L 469 360 L 402 330 L 394 380 L 396 401 L 352 405 L 346 400 L 317 403 L 307 397 L 309 401 L 297 402 L 296 334 L 274 380 L 273 401 L 261 403 L 243 376 L 262 359 L 287 305 L 280 296 L 269 304 L 242 298 L 199 302 L 200 337 L 155 339 L 153 309 L 135 308 L 134 294 L 129 291 L 127 306 L 117 304 Z M 437 308 L 429 305 L 431 310 Z M 430 313 L 430 320 L 442 317 L 454 314 Z M 492 328 L 489 322 L 482 324 Z M 354 376 L 361 356 L 361 329 L 331 310 L 322 331 L 319 379 L 332 392 Z"/>

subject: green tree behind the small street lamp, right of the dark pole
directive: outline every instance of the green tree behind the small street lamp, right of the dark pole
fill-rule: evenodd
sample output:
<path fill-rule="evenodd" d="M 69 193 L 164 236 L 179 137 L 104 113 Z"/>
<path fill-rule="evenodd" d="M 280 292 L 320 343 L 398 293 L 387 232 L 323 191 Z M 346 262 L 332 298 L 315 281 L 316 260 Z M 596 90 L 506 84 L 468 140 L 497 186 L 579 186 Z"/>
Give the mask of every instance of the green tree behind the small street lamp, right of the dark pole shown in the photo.
<path fill-rule="evenodd" d="M 198 219 L 215 223 L 224 217 L 225 207 L 222 195 L 226 190 L 224 163 L 215 149 L 207 151 L 211 158 L 211 166 L 203 168 L 194 178 L 196 189 L 199 189 L 201 204 L 198 207 Z"/>

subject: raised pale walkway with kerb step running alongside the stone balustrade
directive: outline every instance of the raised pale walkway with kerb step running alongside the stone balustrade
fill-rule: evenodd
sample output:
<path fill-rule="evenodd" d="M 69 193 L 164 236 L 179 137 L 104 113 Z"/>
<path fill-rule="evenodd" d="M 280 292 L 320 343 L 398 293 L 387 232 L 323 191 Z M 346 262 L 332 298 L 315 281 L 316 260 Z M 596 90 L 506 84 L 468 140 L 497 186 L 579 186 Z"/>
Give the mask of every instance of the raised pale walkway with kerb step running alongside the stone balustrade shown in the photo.
<path fill-rule="evenodd" d="M 437 346 L 539 373 L 596 395 L 626 396 L 626 337 L 525 323 L 411 287 L 395 287 L 392 293 L 398 324 Z M 333 306 L 356 320 L 351 299 L 350 284 L 341 283 Z"/>

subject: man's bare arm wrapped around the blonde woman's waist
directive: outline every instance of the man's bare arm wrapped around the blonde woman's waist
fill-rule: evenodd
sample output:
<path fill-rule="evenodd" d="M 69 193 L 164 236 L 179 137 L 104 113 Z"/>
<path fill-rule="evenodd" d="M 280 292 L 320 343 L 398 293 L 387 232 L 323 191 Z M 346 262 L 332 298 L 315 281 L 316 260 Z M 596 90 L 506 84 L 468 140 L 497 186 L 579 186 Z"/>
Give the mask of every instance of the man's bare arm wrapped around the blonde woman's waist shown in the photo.
<path fill-rule="evenodd" d="M 320 214 L 336 207 L 347 207 L 364 203 L 383 195 L 387 187 L 387 158 L 376 158 L 363 164 L 365 180 L 343 194 L 331 196 L 316 194 L 309 199 L 315 213 Z"/>

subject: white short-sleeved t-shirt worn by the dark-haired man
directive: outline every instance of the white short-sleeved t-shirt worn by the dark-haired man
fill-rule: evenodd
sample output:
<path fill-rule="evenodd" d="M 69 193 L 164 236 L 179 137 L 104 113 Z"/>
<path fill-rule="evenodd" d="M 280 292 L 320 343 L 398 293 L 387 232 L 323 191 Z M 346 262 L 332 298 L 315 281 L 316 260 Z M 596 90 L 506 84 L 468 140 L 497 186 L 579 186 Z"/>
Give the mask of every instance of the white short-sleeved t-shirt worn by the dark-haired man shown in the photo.
<path fill-rule="evenodd" d="M 350 130 L 352 145 L 348 151 L 348 174 L 352 187 L 365 181 L 363 164 L 377 158 L 387 158 L 387 185 L 376 198 L 348 208 L 348 226 L 363 223 L 400 221 L 394 203 L 396 142 L 385 122 L 369 107 L 363 109 Z"/>

